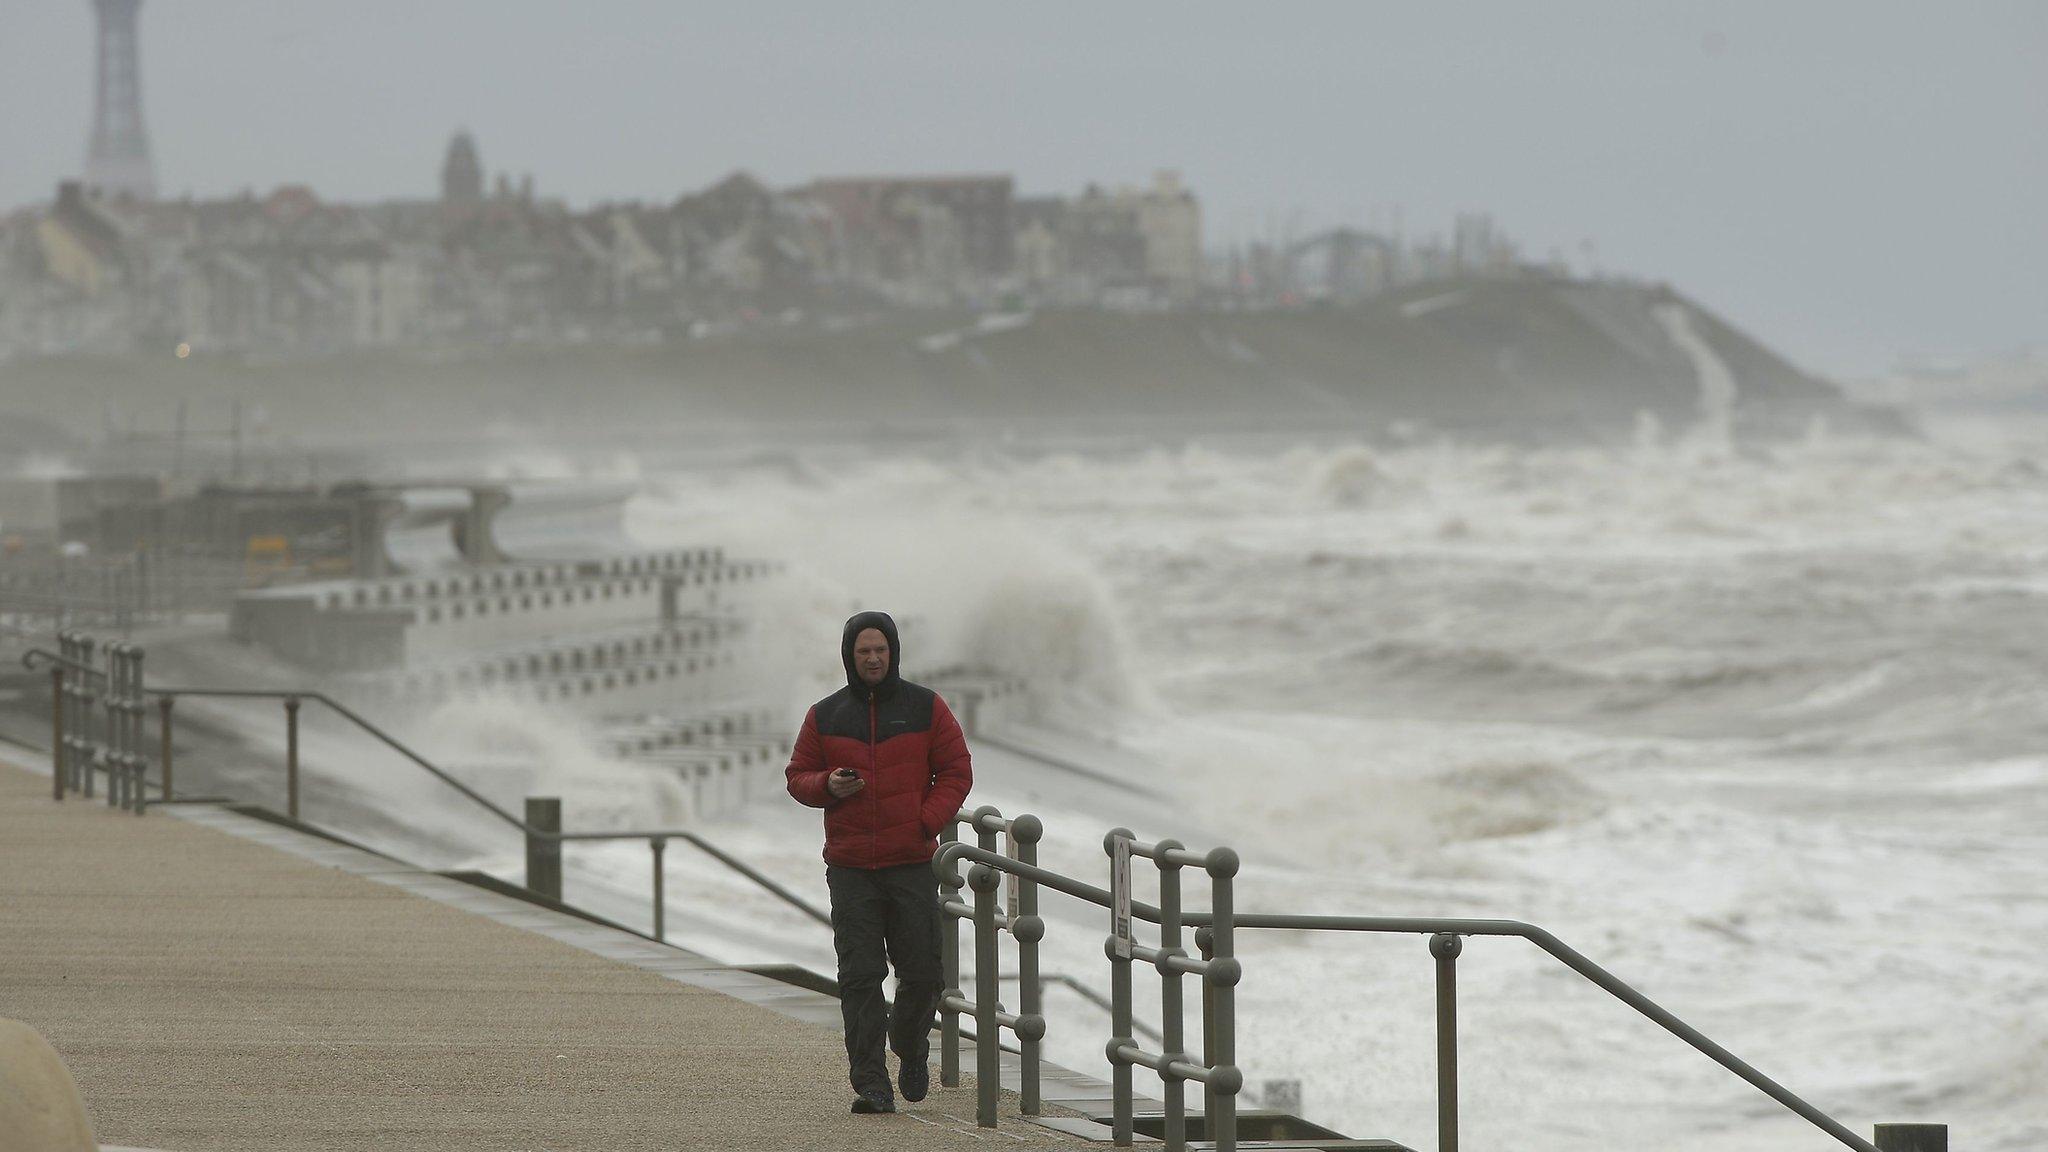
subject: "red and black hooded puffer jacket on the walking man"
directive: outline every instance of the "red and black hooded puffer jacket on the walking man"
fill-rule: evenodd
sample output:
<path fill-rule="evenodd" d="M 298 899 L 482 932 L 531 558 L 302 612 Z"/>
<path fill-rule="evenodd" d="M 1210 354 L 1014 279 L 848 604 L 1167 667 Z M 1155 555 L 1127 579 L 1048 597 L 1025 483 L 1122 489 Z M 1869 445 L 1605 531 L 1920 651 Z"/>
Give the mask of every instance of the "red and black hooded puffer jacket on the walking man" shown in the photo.
<path fill-rule="evenodd" d="M 872 689 L 854 672 L 862 629 L 889 637 L 889 676 Z M 811 705 L 788 758 L 788 793 L 825 810 L 825 863 L 891 867 L 930 861 L 938 832 L 975 783 L 967 734 L 938 693 L 897 674 L 903 648 L 887 613 L 846 621 L 840 656 L 846 687 Z M 825 789 L 834 769 L 866 783 L 838 799 Z"/>

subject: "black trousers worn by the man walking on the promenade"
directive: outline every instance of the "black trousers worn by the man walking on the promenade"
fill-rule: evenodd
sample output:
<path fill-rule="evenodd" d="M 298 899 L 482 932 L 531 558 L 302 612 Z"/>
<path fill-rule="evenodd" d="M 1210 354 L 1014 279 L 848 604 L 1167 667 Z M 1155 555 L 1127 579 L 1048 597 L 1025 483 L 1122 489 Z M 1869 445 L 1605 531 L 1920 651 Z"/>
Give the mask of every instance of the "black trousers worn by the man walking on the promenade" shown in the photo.
<path fill-rule="evenodd" d="M 825 865 L 831 945 L 840 955 L 840 1017 L 854 1093 L 895 1097 L 883 1043 L 901 1062 L 930 1056 L 944 990 L 938 965 L 938 875 L 928 863 L 864 869 Z M 895 1011 L 883 978 L 897 974 Z"/>

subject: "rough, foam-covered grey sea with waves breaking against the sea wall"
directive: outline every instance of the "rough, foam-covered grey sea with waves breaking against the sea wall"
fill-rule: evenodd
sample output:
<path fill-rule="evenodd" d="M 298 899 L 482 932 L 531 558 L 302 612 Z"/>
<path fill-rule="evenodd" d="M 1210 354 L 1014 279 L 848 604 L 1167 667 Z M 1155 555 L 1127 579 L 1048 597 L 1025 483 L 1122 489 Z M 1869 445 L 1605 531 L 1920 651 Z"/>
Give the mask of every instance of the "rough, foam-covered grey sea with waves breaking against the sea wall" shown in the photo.
<path fill-rule="evenodd" d="M 1769 447 L 1647 424 L 1620 447 L 1071 437 L 500 471 L 625 484 L 639 545 L 782 560 L 733 676 L 791 730 L 854 607 L 903 617 L 911 678 L 1024 676 L 971 804 L 1042 816 L 1051 867 L 1106 883 L 1122 822 L 1235 847 L 1243 910 L 1530 920 L 1851 1127 L 2021 1152 L 2048 1140 L 2044 447 L 2011 422 Z M 645 824 L 680 787 L 510 703 L 420 738 L 508 801 L 565 795 L 571 826 Z M 516 840 L 410 769 L 311 740 L 377 795 L 365 834 L 518 877 Z M 707 836 L 823 902 L 817 814 L 760 783 Z M 676 943 L 831 970 L 811 920 L 709 859 L 670 867 Z M 575 849 L 569 888 L 643 924 L 647 853 Z M 1104 912 L 1044 910 L 1047 972 L 1106 990 Z M 1421 937 L 1239 953 L 1249 1103 L 1298 1080 L 1309 1119 L 1434 1140 Z M 1831 1144 L 1522 941 L 1468 941 L 1460 1000 L 1473 1146 Z M 1047 1011 L 1047 1056 L 1104 1074 L 1106 1015 L 1059 988 Z"/>

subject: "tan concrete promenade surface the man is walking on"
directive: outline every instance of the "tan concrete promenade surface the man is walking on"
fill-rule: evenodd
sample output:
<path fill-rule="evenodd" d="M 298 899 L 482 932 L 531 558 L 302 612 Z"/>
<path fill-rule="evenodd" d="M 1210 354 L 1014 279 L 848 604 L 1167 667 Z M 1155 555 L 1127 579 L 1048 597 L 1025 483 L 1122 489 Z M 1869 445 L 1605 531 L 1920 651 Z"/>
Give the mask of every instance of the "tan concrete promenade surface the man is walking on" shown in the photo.
<path fill-rule="evenodd" d="M 922 1105 L 848 1115 L 815 992 L 217 808 L 57 804 L 8 756 L 0 1017 L 63 1056 L 102 1146 L 1090 1144 L 1010 1095 L 975 1129 L 936 1068 Z"/>

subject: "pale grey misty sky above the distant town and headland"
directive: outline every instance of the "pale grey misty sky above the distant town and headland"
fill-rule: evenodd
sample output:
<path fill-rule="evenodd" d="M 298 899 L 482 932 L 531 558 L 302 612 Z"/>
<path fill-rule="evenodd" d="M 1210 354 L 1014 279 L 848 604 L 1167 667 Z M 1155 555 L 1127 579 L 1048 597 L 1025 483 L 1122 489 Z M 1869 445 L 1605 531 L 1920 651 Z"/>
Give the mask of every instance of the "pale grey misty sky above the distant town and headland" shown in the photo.
<path fill-rule="evenodd" d="M 8 0 L 0 205 L 84 158 L 88 0 Z M 2048 4 L 143 0 L 166 193 L 426 197 L 451 131 L 575 205 L 733 168 L 1178 168 L 1212 246 L 1444 232 L 1667 279 L 1808 367 L 2048 340 Z"/>

